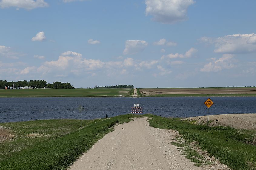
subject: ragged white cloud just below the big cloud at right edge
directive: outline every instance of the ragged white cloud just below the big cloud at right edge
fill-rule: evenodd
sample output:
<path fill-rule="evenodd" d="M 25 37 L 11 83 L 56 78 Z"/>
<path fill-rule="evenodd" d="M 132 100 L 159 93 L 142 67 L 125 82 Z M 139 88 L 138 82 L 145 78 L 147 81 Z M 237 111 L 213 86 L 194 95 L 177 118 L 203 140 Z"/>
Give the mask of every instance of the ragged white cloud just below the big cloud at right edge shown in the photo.
<path fill-rule="evenodd" d="M 233 54 L 223 54 L 221 58 L 211 58 L 212 62 L 205 64 L 201 72 L 219 72 L 223 69 L 231 69 L 235 67 L 233 64 Z"/>

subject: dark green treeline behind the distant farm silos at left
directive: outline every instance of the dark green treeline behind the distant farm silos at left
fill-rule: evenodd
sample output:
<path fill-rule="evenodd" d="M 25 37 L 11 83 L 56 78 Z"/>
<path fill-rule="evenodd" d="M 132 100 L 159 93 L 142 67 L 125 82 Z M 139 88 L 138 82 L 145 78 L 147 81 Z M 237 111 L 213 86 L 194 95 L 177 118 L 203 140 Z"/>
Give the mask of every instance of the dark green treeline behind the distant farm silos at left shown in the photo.
<path fill-rule="evenodd" d="M 18 82 L 7 82 L 6 80 L 0 80 L 0 89 L 5 89 L 5 86 L 12 87 L 30 86 L 36 88 L 74 88 L 70 83 L 54 82 L 52 84 L 47 83 L 45 80 L 22 80 Z"/>

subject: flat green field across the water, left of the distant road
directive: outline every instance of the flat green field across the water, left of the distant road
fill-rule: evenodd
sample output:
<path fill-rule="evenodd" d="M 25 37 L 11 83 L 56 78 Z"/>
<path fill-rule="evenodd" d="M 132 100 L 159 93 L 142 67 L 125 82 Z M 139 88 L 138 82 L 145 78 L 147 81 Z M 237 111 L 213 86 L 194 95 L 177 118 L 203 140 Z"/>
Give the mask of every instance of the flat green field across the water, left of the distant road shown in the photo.
<path fill-rule="evenodd" d="M 86 97 L 86 96 L 129 96 L 130 88 L 98 89 L 16 89 L 0 90 L 0 97 Z"/>

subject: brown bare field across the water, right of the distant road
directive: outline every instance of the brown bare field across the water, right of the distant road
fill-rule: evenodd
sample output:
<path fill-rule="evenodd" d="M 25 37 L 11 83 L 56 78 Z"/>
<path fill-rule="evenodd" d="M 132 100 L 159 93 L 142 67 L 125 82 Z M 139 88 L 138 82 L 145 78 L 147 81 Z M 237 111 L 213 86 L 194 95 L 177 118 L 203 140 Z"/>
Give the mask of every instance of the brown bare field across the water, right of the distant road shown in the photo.
<path fill-rule="evenodd" d="M 140 88 L 142 95 L 256 94 L 256 88 Z"/>

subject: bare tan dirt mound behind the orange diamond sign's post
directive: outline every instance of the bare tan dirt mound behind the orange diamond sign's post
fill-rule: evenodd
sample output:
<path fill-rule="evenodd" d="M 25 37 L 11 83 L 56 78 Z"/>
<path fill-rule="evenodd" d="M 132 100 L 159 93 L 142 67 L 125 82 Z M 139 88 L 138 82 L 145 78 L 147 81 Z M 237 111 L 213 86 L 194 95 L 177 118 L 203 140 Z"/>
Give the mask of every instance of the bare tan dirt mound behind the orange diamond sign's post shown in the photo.
<path fill-rule="evenodd" d="M 195 124 L 207 123 L 207 116 L 188 117 L 181 120 L 192 121 Z M 256 114 L 219 114 L 209 115 L 209 126 L 230 126 L 237 129 L 256 130 Z"/>

